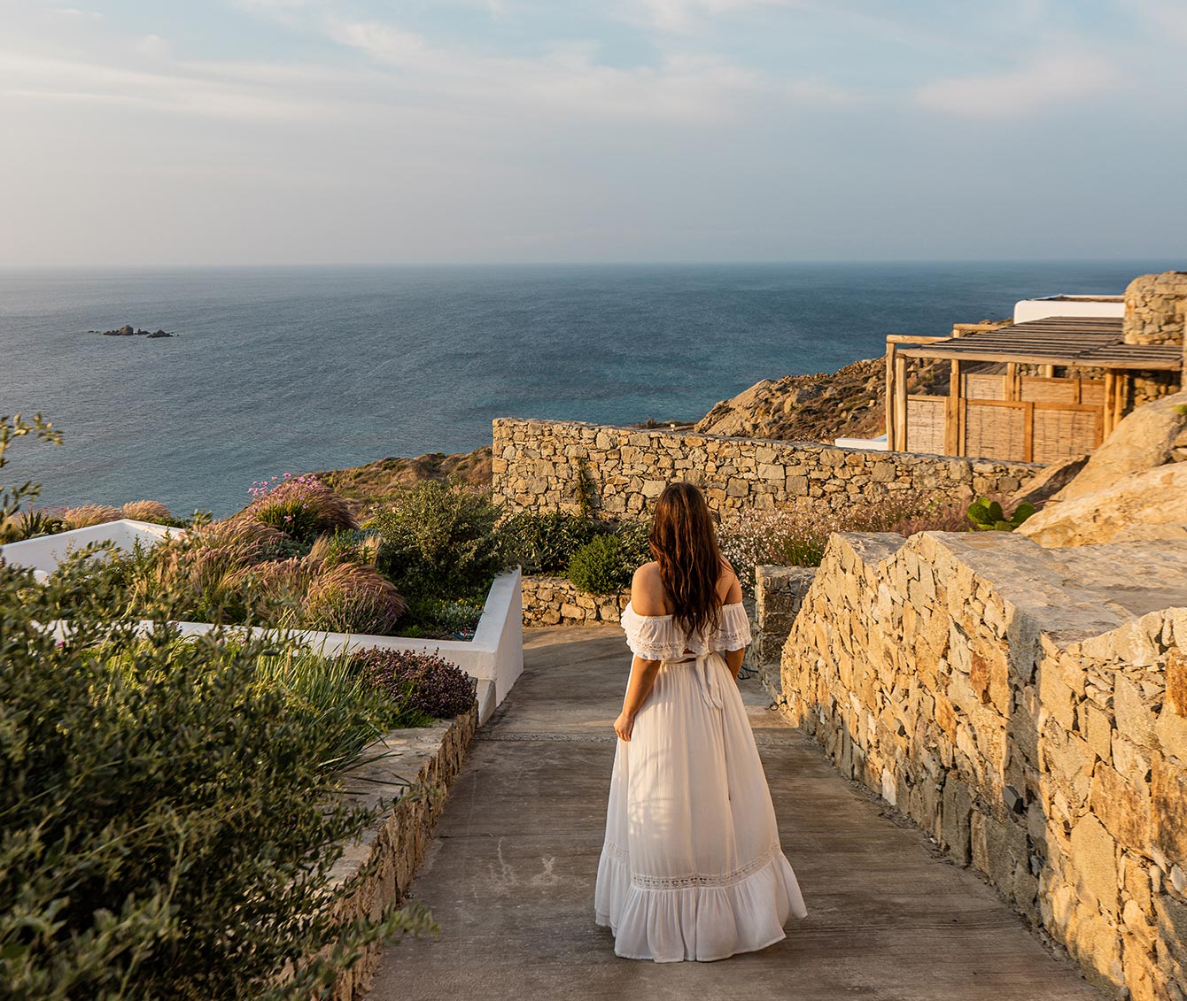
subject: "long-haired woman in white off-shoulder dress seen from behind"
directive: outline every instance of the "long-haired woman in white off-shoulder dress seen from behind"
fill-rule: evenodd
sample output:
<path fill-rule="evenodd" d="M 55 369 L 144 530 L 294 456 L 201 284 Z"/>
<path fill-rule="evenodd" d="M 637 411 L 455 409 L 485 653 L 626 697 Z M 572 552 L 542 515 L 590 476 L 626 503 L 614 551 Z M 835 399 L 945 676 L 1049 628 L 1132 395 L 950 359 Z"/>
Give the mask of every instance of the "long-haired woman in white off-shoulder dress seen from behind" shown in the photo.
<path fill-rule="evenodd" d="M 618 956 L 724 959 L 779 942 L 807 911 L 735 684 L 750 642 L 742 587 L 696 486 L 660 495 L 650 548 L 622 613 L 635 657 L 596 919 Z"/>

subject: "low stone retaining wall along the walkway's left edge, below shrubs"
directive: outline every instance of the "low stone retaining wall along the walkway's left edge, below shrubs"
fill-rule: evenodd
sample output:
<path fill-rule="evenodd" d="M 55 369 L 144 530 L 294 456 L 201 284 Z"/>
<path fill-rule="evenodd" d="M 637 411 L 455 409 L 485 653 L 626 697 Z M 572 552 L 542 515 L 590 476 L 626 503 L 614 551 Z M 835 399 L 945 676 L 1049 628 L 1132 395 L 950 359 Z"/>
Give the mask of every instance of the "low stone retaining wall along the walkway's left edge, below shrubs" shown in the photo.
<path fill-rule="evenodd" d="M 445 793 L 462 767 L 462 760 L 478 727 L 477 707 L 455 720 L 431 727 L 398 729 L 364 752 L 364 764 L 347 776 L 350 798 L 361 805 L 391 801 L 394 785 L 412 783 L 331 871 L 336 885 L 354 878 L 364 866 L 375 865 L 364 882 L 339 905 L 347 918 L 375 918 L 388 905 L 399 905 L 425 849 L 433 827 L 445 809 Z M 377 757 L 382 754 L 382 757 Z M 376 758 L 376 760 L 369 760 Z M 370 987 L 379 968 L 382 945 L 374 945 L 334 986 L 332 1001 L 357 1001 Z"/>

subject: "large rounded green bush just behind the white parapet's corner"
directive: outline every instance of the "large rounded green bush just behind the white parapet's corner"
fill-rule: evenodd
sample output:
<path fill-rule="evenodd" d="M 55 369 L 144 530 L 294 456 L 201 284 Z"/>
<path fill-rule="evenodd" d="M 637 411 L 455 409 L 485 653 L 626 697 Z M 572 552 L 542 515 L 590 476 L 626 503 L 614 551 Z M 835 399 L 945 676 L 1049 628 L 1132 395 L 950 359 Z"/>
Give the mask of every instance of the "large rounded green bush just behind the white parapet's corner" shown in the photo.
<path fill-rule="evenodd" d="M 488 493 L 418 483 L 372 518 L 380 535 L 375 565 L 401 594 L 482 600 L 507 562 L 499 514 Z"/>

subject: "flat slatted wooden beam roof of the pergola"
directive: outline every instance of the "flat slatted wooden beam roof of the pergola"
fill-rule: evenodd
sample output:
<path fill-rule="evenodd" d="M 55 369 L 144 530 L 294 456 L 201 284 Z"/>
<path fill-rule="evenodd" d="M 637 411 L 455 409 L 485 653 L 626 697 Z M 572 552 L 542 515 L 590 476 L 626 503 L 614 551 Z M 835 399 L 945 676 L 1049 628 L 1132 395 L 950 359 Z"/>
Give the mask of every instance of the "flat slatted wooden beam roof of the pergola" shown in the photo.
<path fill-rule="evenodd" d="M 1125 344 L 1119 317 L 1047 317 L 997 330 L 948 337 L 926 346 L 900 348 L 908 358 L 1028 362 L 1098 369 L 1179 371 L 1181 344 Z"/>

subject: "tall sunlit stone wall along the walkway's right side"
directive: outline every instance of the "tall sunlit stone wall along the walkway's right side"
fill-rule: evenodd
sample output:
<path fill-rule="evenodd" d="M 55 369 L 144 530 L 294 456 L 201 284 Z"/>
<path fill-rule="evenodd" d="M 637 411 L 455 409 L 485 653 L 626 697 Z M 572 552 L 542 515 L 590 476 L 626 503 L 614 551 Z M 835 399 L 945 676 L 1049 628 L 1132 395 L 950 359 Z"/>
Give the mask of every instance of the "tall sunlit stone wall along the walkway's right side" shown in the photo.
<path fill-rule="evenodd" d="M 1187 995 L 1187 543 L 833 536 L 785 712 L 1090 978 Z"/>

